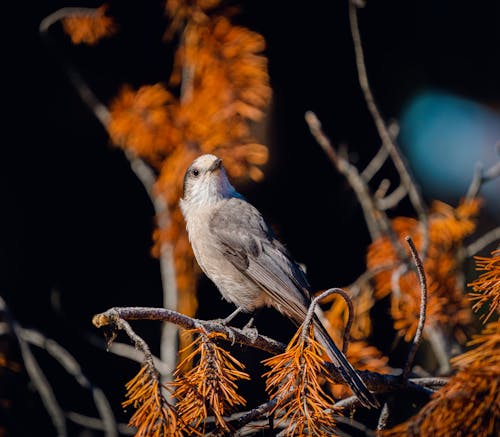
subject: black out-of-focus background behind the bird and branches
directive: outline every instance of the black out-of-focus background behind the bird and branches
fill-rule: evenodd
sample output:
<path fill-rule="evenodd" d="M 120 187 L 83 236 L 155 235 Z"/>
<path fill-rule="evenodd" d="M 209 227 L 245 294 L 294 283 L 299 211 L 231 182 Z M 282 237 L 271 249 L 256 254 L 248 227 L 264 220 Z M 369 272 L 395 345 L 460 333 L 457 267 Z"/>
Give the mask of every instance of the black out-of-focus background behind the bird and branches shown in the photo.
<path fill-rule="evenodd" d="M 349 284 L 364 270 L 369 235 L 351 189 L 312 139 L 304 113 L 315 111 L 332 140 L 347 144 L 361 167 L 380 141 L 357 83 L 347 2 L 293 3 L 247 1 L 236 18 L 266 38 L 274 91 L 266 178 L 238 188 L 321 289 Z M 82 5 L 99 3 L 17 2 L 4 16 L 0 294 L 21 324 L 75 356 L 126 421 L 123 386 L 138 366 L 89 344 L 88 336 L 101 338 L 91 319 L 108 307 L 161 306 L 158 262 L 149 254 L 153 209 L 122 152 L 74 92 L 60 59 L 76 65 L 108 102 L 124 83 L 165 81 L 171 52 L 162 42 L 166 20 L 159 1 L 111 2 L 121 32 L 96 47 L 72 46 L 59 25 L 50 33 L 56 51 L 44 45 L 40 21 L 60 7 Z M 498 110 L 499 20 L 498 1 L 368 2 L 360 27 L 384 117 L 397 119 L 413 95 L 430 87 Z M 394 176 L 390 168 L 384 174 Z M 411 209 L 403 203 L 394 214 Z M 496 218 L 486 214 L 483 220 L 486 228 Z M 200 317 L 232 310 L 208 281 L 202 279 L 199 290 Z M 282 320 L 266 311 L 259 317 L 267 334 Z M 151 325 L 138 324 L 138 330 L 154 348 L 158 325 Z M 289 332 L 283 322 L 276 336 Z M 15 343 L 7 344 L 18 356 Z M 39 358 L 65 408 L 95 415 L 88 392 L 43 353 Z M 8 376 L 1 397 L 12 403 L 4 404 L 1 419 L 11 435 L 34 429 L 52 435 L 26 375 Z M 80 431 L 72 429 L 74 435 Z"/>

